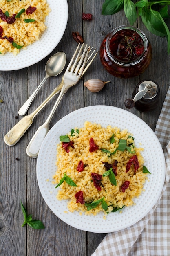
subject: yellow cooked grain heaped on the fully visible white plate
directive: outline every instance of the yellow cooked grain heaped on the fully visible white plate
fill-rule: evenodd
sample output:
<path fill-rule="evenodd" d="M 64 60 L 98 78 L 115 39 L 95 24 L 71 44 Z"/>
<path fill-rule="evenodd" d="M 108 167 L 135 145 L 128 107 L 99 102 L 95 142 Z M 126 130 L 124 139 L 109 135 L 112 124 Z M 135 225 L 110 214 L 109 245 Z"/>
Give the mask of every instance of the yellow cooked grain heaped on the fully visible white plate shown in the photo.
<path fill-rule="evenodd" d="M 66 181 L 59 186 L 57 192 L 58 200 L 67 200 L 69 211 L 80 211 L 85 214 L 96 215 L 100 211 L 110 213 L 124 206 L 134 204 L 133 199 L 141 195 L 143 185 L 147 179 L 146 173 L 143 173 L 144 159 L 141 155 L 143 148 L 136 148 L 134 138 L 127 130 L 120 130 L 117 127 L 102 127 L 100 124 L 85 122 L 83 128 L 74 128 L 74 133 L 68 133 L 70 141 L 73 142 L 64 148 L 64 142 L 57 145 L 57 171 L 53 176 L 53 183 L 59 184 L 60 180 L 67 175 L 77 186 L 71 186 Z M 110 141 L 110 138 L 113 138 Z M 89 141 L 93 142 L 97 148 L 89 152 Z M 125 149 L 118 150 L 120 141 L 126 141 L 131 153 Z M 94 148 L 93 148 L 94 149 Z M 68 150 L 69 152 L 66 152 Z M 90 150 L 91 151 L 91 150 Z M 112 153 L 112 154 L 111 154 Z M 127 163 L 132 157 L 137 157 L 139 166 L 135 173 L 135 161 L 130 164 L 127 171 Z M 116 185 L 110 182 L 110 176 L 103 176 L 110 168 L 109 166 L 117 161 L 117 173 L 115 173 Z M 79 162 L 83 162 L 83 171 L 77 171 Z M 108 164 L 109 168 L 105 165 Z M 110 164 L 110 165 L 109 165 Z M 113 169 L 112 169 L 113 170 Z M 127 171 L 127 172 L 126 172 Z M 96 173 L 100 177 L 98 185 L 101 190 L 96 189 L 92 174 Z M 122 189 L 124 182 L 128 185 Z M 84 202 L 76 202 L 75 194 L 82 191 Z M 124 192 L 123 192 L 124 191 Z M 91 202 L 102 200 L 95 208 L 89 208 Z M 102 205 L 102 202 L 104 203 Z M 102 206 L 104 206 L 102 208 Z M 90 209 L 90 210 L 89 210 Z"/>

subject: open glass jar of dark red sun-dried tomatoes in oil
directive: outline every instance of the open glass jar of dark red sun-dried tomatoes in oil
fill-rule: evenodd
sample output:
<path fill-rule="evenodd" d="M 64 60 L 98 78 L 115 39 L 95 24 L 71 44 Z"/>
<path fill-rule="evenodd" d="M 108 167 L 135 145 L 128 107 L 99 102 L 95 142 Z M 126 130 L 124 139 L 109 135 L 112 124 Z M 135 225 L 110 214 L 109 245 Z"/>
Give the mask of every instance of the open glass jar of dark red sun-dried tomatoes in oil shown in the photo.
<path fill-rule="evenodd" d="M 146 70 L 152 59 L 152 47 L 140 29 L 120 26 L 102 41 L 100 59 L 113 76 L 130 78 Z"/>

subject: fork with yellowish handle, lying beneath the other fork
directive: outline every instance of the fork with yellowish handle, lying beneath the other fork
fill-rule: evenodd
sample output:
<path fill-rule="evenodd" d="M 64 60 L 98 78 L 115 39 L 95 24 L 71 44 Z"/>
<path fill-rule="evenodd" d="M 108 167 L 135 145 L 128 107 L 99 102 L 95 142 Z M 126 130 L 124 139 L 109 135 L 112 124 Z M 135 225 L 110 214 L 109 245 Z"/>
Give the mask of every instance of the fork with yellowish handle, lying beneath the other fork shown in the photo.
<path fill-rule="evenodd" d="M 83 45 L 82 45 L 83 47 Z M 82 49 L 81 47 L 81 49 Z M 76 53 L 78 52 L 78 49 L 79 49 L 79 45 L 76 49 Z M 89 53 L 91 50 L 87 50 L 87 47 L 86 47 L 86 52 Z M 81 50 L 79 51 L 81 52 Z M 93 51 L 93 53 L 95 52 L 95 50 Z M 84 63 L 86 64 L 86 67 L 84 68 L 84 70 L 81 68 L 79 69 L 79 71 L 82 73 L 81 75 L 79 75 L 79 79 L 81 78 L 81 76 L 84 74 L 84 72 L 86 72 L 86 70 L 88 69 L 88 67 L 91 65 L 92 61 L 94 60 L 95 56 L 97 55 L 97 53 L 92 57 L 93 53 L 88 57 L 88 59 L 86 60 L 86 62 L 84 61 Z M 85 50 L 83 52 L 84 56 L 86 56 L 85 54 Z M 75 56 L 76 54 L 74 54 Z M 87 54 L 88 55 L 88 54 Z M 80 54 L 79 54 L 79 58 L 76 58 L 77 61 L 79 61 L 80 59 Z M 91 60 L 90 60 L 91 58 Z M 71 59 L 71 62 L 73 62 L 73 58 Z M 70 62 L 70 63 L 71 63 Z M 69 64 L 69 66 L 71 66 Z M 71 68 L 73 68 L 73 65 L 71 66 Z M 79 74 L 79 71 L 78 74 Z M 78 79 L 78 80 L 79 80 Z M 78 82 L 78 81 L 77 81 Z M 31 114 L 23 117 L 15 126 L 13 126 L 13 128 L 11 130 L 9 130 L 9 132 L 7 132 L 7 134 L 4 136 L 4 142 L 8 145 L 8 146 L 14 146 L 19 140 L 20 138 L 24 135 L 24 133 L 29 129 L 29 127 L 31 126 L 31 124 L 33 123 L 33 119 L 34 117 L 40 112 L 40 110 L 42 110 L 42 108 L 58 93 L 60 92 L 60 90 L 62 89 L 63 87 L 63 84 L 64 84 L 64 76 L 62 77 L 62 82 L 60 83 L 60 85 L 58 85 L 54 90 L 53 92 L 49 95 L 49 97 L 47 97 L 42 103 L 41 105 L 35 109 Z M 76 84 L 76 82 L 75 82 Z M 74 85 L 74 84 L 73 84 Z M 71 86 L 73 86 L 71 85 Z M 70 86 L 70 87 L 71 87 Z M 69 88 L 69 87 L 68 87 Z M 68 90 L 68 89 L 67 89 Z M 64 89 L 62 90 L 64 91 Z M 65 92 L 64 92 L 65 93 Z M 63 93 L 63 95 L 64 95 Z M 62 95 L 62 96 L 63 96 Z M 60 100 L 62 99 L 62 97 L 60 96 Z M 59 101 L 60 102 L 60 101 Z M 59 103 L 58 102 L 58 103 Z"/>

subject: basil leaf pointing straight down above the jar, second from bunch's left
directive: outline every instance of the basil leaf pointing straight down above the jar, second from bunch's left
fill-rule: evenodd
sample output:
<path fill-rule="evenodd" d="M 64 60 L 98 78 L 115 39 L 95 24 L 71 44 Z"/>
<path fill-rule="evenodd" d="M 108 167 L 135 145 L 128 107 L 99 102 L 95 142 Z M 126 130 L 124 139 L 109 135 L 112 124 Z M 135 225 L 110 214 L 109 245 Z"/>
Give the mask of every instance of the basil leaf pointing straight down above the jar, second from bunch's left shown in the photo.
<path fill-rule="evenodd" d="M 134 2 L 131 0 L 124 0 L 124 13 L 128 18 L 130 25 L 133 25 L 137 19 L 137 11 Z"/>

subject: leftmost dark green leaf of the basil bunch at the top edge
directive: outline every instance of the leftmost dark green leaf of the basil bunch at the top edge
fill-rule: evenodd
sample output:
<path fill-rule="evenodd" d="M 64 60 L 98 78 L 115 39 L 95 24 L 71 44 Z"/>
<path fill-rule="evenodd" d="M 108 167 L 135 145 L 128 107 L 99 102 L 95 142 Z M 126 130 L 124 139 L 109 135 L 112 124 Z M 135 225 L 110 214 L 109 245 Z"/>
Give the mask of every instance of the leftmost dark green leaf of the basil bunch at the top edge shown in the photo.
<path fill-rule="evenodd" d="M 124 8 L 124 0 L 105 0 L 102 15 L 112 15 Z"/>

